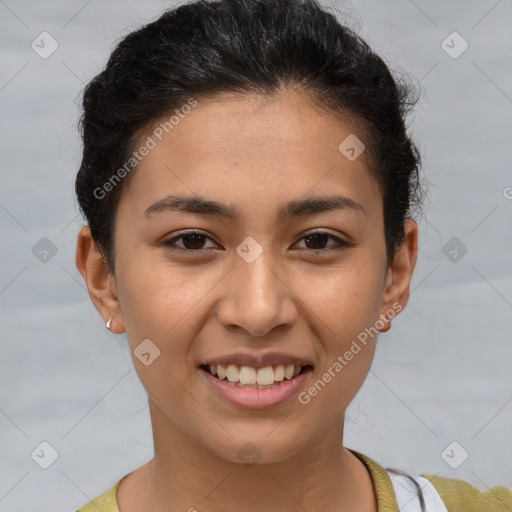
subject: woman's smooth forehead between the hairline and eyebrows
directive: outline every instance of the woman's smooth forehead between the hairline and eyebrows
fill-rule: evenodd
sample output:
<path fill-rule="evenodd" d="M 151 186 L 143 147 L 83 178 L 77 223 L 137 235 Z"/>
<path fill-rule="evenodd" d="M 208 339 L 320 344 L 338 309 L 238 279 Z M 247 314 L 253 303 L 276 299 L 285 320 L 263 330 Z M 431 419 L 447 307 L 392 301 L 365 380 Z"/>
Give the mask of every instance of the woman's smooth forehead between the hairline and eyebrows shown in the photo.
<path fill-rule="evenodd" d="M 363 142 L 364 134 L 303 95 L 222 95 L 176 110 L 172 123 L 172 113 L 162 117 L 135 144 L 152 141 L 120 202 L 137 217 L 169 194 L 206 196 L 260 216 L 285 197 L 333 193 L 370 215 L 382 209 L 368 155 L 350 160 L 340 151 L 347 138 Z"/>

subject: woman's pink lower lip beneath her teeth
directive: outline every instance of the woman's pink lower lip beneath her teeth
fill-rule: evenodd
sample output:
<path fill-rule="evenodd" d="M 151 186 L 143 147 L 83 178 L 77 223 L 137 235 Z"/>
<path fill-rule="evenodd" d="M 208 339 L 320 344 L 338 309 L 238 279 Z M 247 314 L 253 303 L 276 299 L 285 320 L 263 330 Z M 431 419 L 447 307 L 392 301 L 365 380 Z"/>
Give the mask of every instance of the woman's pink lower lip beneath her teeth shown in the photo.
<path fill-rule="evenodd" d="M 267 409 L 280 405 L 295 396 L 311 373 L 311 369 L 293 379 L 284 379 L 273 388 L 266 389 L 238 388 L 214 377 L 203 368 L 199 368 L 199 372 L 220 396 L 233 405 L 245 409 Z"/>

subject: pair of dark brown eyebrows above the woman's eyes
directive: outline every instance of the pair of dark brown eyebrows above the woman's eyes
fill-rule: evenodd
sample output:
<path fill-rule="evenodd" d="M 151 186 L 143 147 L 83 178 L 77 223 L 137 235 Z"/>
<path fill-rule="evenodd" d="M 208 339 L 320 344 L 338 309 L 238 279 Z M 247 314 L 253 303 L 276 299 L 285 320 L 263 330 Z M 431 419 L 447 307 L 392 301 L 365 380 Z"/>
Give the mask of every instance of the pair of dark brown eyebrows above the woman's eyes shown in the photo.
<path fill-rule="evenodd" d="M 361 212 L 367 217 L 366 210 L 361 203 L 354 201 L 350 197 L 329 195 L 290 201 L 278 210 L 277 222 L 282 222 L 290 217 L 346 209 Z M 198 196 L 169 195 L 147 208 L 142 217 L 147 218 L 154 214 L 169 211 L 220 216 L 232 221 L 237 220 L 240 216 L 240 210 L 232 205 L 222 204 Z"/>

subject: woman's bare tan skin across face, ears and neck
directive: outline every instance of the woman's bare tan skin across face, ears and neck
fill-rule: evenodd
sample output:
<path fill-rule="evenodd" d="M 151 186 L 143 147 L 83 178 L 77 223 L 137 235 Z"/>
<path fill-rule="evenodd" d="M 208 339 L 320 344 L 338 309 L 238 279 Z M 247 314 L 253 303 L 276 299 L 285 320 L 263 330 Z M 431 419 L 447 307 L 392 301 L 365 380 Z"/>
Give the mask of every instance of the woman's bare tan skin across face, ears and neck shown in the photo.
<path fill-rule="evenodd" d="M 393 304 L 406 306 L 417 225 L 406 221 L 404 244 L 388 268 L 382 197 L 366 154 L 349 161 L 338 150 L 349 134 L 364 140 L 348 119 L 293 91 L 201 100 L 123 190 L 115 276 L 89 228 L 80 230 L 77 268 L 103 321 L 112 318 L 111 331 L 126 332 L 149 399 L 155 456 L 121 483 L 121 512 L 220 512 L 241 503 L 248 512 L 377 510 L 368 471 L 342 443 L 345 410 L 368 374 L 378 336 L 307 405 L 293 398 L 266 410 L 240 409 L 198 369 L 210 357 L 278 350 L 311 361 L 307 389 Z M 288 201 L 333 193 L 360 202 L 366 214 L 333 210 L 277 223 L 276 211 Z M 168 194 L 233 205 L 241 216 L 143 217 Z M 180 239 L 177 251 L 159 245 L 190 229 L 207 238 Z M 314 229 L 354 245 L 307 243 L 305 233 Z M 252 263 L 236 252 L 247 236 L 263 250 Z M 209 252 L 190 256 L 184 248 Z M 133 355 L 146 338 L 160 349 L 148 366 Z M 261 453 L 253 466 L 237 455 L 247 442 Z"/>

